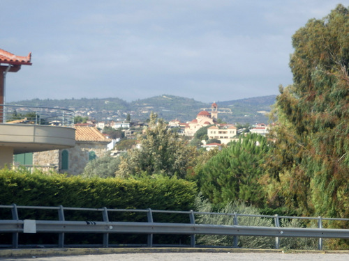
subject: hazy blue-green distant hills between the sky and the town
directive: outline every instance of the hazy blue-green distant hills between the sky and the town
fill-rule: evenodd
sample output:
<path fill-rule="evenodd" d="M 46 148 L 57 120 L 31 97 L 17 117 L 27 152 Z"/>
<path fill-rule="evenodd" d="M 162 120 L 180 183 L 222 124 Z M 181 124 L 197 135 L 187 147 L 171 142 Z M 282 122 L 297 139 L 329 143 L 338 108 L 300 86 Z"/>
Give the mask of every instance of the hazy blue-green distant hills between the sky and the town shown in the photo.
<path fill-rule="evenodd" d="M 276 95 L 253 97 L 243 100 L 216 102 L 218 118 L 230 123 L 267 123 L 265 116 L 275 102 Z M 212 101 L 213 102 L 213 101 Z M 71 109 L 76 115 L 89 116 L 95 120 L 124 120 L 129 113 L 131 120 L 146 120 L 154 111 L 165 120 L 178 119 L 182 122 L 193 120 L 202 110 L 211 110 L 211 103 L 198 102 L 186 97 L 160 95 L 143 100 L 126 102 L 117 97 L 103 99 L 65 99 L 65 100 L 25 100 L 11 102 L 29 106 L 59 107 Z"/>

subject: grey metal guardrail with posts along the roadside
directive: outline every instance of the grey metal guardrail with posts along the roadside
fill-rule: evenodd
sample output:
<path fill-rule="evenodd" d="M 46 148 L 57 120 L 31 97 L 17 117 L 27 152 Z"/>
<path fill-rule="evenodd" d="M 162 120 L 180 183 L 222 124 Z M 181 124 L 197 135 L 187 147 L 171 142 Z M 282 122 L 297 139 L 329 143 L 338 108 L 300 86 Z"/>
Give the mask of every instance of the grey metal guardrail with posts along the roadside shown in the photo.
<path fill-rule="evenodd" d="M 280 237 L 313 237 L 319 239 L 319 250 L 322 249 L 322 238 L 341 238 L 349 239 L 349 229 L 330 229 L 322 228 L 322 221 L 349 221 L 349 219 L 332 219 L 323 217 L 297 217 L 297 216 L 266 216 L 251 214 L 226 214 L 215 212 L 194 212 L 194 211 L 170 211 L 153 209 L 107 209 L 103 208 L 76 208 L 76 207 L 34 207 L 0 205 L 0 209 L 10 209 L 13 219 L 1 220 L 0 233 L 12 233 L 13 242 L 10 247 L 18 248 L 18 239 L 20 233 L 58 233 L 59 239 L 57 246 L 63 248 L 65 233 L 98 233 L 103 234 L 103 247 L 109 246 L 109 235 L 118 234 L 146 234 L 147 246 L 153 246 L 154 234 L 166 235 L 190 235 L 191 247 L 195 247 L 195 235 L 231 235 L 234 236 L 234 246 L 237 247 L 238 236 L 260 236 L 275 237 L 275 248 L 280 246 Z M 54 209 L 57 210 L 57 221 L 47 220 L 20 220 L 18 209 Z M 66 221 L 64 210 L 101 212 L 103 221 Z M 142 212 L 147 214 L 147 222 L 117 222 L 110 221 L 111 212 Z M 188 215 L 190 223 L 158 223 L 154 222 L 153 214 L 185 214 Z M 233 226 L 197 224 L 195 215 L 228 215 L 234 220 Z M 251 218 L 274 219 L 275 227 L 262 226 L 239 226 L 239 217 L 248 216 Z M 318 221 L 318 228 L 283 228 L 280 226 L 280 219 L 309 219 Z M 1 245 L 0 245 L 1 246 Z M 5 246 L 6 247 L 6 246 Z"/>

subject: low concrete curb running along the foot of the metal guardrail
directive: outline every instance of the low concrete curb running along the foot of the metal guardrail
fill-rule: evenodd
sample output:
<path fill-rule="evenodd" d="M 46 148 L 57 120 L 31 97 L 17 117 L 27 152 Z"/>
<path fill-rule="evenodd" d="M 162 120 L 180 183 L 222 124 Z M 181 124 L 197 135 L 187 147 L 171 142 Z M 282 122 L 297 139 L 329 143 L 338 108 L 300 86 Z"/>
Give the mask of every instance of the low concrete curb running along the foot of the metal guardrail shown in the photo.
<path fill-rule="evenodd" d="M 25 258 L 59 255 L 105 255 L 117 253 L 283 253 L 282 249 L 250 249 L 250 248 L 30 248 L 2 249 L 0 258 Z M 343 253 L 348 251 L 302 251 L 292 250 L 287 253 Z"/>

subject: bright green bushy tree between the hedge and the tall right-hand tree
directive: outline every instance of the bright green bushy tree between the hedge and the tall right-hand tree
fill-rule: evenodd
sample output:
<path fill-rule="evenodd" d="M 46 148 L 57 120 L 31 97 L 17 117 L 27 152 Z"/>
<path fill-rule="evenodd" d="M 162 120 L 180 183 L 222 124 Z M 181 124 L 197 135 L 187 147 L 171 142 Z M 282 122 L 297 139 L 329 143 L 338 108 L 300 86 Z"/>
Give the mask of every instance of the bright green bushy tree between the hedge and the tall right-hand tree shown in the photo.
<path fill-rule="evenodd" d="M 242 200 L 263 207 L 265 195 L 258 180 L 271 147 L 264 136 L 248 134 L 223 148 L 198 173 L 202 195 L 214 204 Z"/>

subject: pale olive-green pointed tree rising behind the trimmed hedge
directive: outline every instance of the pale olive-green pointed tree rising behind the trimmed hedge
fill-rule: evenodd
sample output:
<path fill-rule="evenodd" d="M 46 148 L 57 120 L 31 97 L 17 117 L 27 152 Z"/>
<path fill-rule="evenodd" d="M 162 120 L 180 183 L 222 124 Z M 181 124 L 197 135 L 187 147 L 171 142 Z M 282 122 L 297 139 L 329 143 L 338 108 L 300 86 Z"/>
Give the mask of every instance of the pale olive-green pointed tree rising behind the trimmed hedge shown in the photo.
<path fill-rule="evenodd" d="M 149 126 L 140 136 L 140 148 L 128 150 L 121 159 L 117 175 L 122 177 L 161 174 L 185 177 L 191 164 L 191 148 L 179 140 L 176 132 L 168 129 L 162 119 L 151 113 Z"/>

